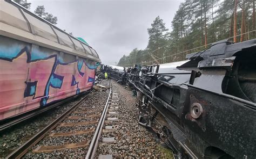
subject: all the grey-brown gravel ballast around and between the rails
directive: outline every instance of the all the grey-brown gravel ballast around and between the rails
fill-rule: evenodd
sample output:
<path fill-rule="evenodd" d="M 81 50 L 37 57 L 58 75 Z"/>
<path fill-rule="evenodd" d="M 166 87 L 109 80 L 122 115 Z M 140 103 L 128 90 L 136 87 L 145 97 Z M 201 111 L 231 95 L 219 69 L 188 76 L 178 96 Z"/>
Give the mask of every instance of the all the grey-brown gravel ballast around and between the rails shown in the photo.
<path fill-rule="evenodd" d="M 103 80 L 100 85 L 109 86 L 109 81 Z M 172 151 L 160 146 L 161 141 L 155 139 L 153 134 L 144 126 L 138 124 L 138 108 L 136 106 L 137 99 L 133 96 L 131 90 L 125 89 L 124 85 L 120 85 L 112 80 L 112 100 L 109 106 L 103 132 L 100 137 L 98 149 L 95 158 L 99 155 L 111 154 L 113 158 L 172 158 Z M 95 121 L 100 117 L 86 117 L 102 112 L 104 109 L 109 90 L 97 91 L 89 95 L 84 102 L 77 107 L 76 113 L 69 116 L 82 118 L 66 118 L 63 123 L 78 123 L 86 121 Z M 80 99 L 80 98 L 79 98 Z M 75 101 L 78 102 L 78 99 Z M 21 145 L 23 142 L 31 138 L 31 136 L 39 132 L 46 125 L 50 124 L 64 111 L 68 110 L 75 102 L 58 107 L 53 111 L 44 113 L 41 117 L 31 119 L 27 124 L 17 126 L 12 129 L 11 133 L 1 135 L 0 153 L 5 157 L 11 151 Z M 112 107 L 110 109 L 110 107 Z M 87 112 L 86 112 L 87 111 Z M 109 120 L 107 120 L 109 118 Z M 110 119 L 115 119 L 111 121 Z M 111 129 L 111 126 L 113 126 Z M 87 134 L 72 134 L 70 136 L 49 136 L 52 133 L 69 133 L 77 131 L 85 131 L 86 129 L 96 128 L 97 124 L 62 126 L 61 124 L 53 129 L 39 141 L 36 146 L 23 156 L 23 158 L 84 158 L 89 146 L 55 150 L 48 153 L 34 153 L 38 146 L 59 146 L 63 144 L 78 143 L 90 141 L 93 132 Z M 113 142 L 103 142 L 106 138 L 113 138 Z"/>

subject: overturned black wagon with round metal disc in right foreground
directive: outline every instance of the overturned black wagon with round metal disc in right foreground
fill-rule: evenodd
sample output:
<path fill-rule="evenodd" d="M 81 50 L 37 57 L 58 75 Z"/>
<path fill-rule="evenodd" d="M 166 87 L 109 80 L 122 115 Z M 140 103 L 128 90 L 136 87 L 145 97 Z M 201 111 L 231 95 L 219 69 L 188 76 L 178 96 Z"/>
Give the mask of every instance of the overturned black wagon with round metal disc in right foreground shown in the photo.
<path fill-rule="evenodd" d="M 177 158 L 255 158 L 256 39 L 188 57 L 130 74 L 140 124 L 157 119 Z"/>

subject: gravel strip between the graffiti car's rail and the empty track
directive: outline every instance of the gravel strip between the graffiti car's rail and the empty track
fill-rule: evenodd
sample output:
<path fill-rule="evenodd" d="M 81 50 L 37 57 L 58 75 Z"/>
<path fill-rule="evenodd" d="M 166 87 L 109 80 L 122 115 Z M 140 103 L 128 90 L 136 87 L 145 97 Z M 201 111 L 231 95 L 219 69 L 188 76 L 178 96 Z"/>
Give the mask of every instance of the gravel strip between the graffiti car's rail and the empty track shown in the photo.
<path fill-rule="evenodd" d="M 77 103 L 82 97 L 78 97 L 72 102 L 62 104 L 47 112 L 44 112 L 38 117 L 23 121 L 9 129 L 6 129 L 0 134 L 0 158 L 5 157 L 21 146 L 32 135 L 41 131 L 51 121 L 55 120 L 59 115 L 67 111 L 73 104 Z"/>

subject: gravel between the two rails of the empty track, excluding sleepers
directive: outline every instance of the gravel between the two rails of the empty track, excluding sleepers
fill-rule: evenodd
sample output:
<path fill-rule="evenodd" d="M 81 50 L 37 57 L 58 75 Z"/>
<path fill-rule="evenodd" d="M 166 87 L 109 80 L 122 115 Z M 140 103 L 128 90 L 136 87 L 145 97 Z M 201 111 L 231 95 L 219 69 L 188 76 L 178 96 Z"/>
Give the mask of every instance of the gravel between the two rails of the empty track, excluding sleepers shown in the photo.
<path fill-rule="evenodd" d="M 71 136 L 49 136 L 51 133 L 67 133 L 67 132 L 77 132 L 77 131 L 85 131 L 86 129 L 96 128 L 97 124 L 89 124 L 89 125 L 76 125 L 76 126 L 62 126 L 64 123 L 80 123 L 86 121 L 97 121 L 99 117 L 87 117 L 88 115 L 101 113 L 107 97 L 109 95 L 109 90 L 106 91 L 97 91 L 91 93 L 86 99 L 81 103 L 74 112 L 72 112 L 68 117 L 79 116 L 81 118 L 78 119 L 69 119 L 66 118 L 62 122 L 60 122 L 59 126 L 49 132 L 48 136 L 45 136 L 44 139 L 39 141 L 36 146 L 33 146 L 31 150 L 26 153 L 23 158 L 79 158 L 81 156 L 85 156 L 87 147 L 82 148 L 73 148 L 73 149 L 63 149 L 63 150 L 55 150 L 51 152 L 45 153 L 34 153 L 32 150 L 35 150 L 39 146 L 61 146 L 64 144 L 72 144 L 79 142 L 90 141 L 93 137 L 93 133 L 86 134 L 73 134 Z M 99 100 L 100 99 L 100 100 Z M 86 110 L 89 110 L 86 112 Z M 77 113 L 79 111 L 84 111 L 82 113 Z"/>

